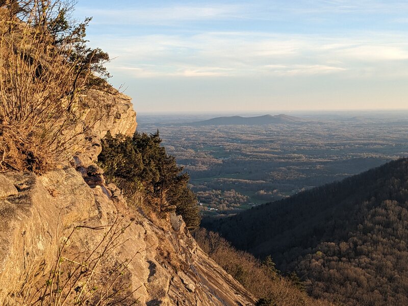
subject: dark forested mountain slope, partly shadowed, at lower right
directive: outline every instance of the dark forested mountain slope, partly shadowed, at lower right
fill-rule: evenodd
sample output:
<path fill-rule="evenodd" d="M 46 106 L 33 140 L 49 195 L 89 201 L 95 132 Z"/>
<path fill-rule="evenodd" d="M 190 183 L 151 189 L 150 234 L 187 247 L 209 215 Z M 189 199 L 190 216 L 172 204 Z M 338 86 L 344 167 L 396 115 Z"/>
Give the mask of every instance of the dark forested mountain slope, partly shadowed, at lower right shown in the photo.
<path fill-rule="evenodd" d="M 203 223 L 342 305 L 408 305 L 408 159 Z"/>

